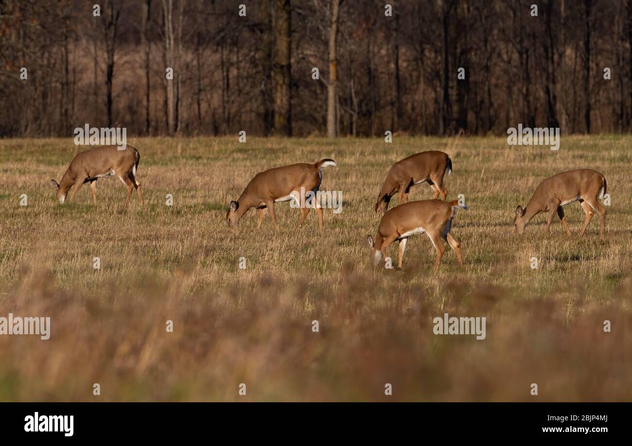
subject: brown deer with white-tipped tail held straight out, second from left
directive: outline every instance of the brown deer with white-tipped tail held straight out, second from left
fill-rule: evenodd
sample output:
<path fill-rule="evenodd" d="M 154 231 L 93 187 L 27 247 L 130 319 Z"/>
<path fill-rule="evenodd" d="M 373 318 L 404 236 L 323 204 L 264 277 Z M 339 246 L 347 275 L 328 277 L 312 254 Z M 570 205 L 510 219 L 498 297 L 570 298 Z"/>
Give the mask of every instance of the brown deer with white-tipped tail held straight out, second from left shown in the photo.
<path fill-rule="evenodd" d="M 279 231 L 276 214 L 274 214 L 274 203 L 289 202 L 290 200 L 300 202 L 298 194 L 301 188 L 304 188 L 304 191 L 313 191 L 314 195 L 309 197 L 305 207 L 301 207 L 301 218 L 298 226 L 303 225 L 305 217 L 310 212 L 307 205 L 313 205 L 318 215 L 319 227 L 322 230 L 322 208 L 313 197 L 322 182 L 322 169 L 327 166 L 336 166 L 336 161 L 325 158 L 315 164 L 291 164 L 290 166 L 274 167 L 259 172 L 255 178 L 250 180 L 238 200 L 231 202 L 226 219 L 231 226 L 236 227 L 241 216 L 248 209 L 255 207 L 259 211 L 257 222 L 257 229 L 259 229 L 265 213 L 269 210 L 274 228 Z"/>

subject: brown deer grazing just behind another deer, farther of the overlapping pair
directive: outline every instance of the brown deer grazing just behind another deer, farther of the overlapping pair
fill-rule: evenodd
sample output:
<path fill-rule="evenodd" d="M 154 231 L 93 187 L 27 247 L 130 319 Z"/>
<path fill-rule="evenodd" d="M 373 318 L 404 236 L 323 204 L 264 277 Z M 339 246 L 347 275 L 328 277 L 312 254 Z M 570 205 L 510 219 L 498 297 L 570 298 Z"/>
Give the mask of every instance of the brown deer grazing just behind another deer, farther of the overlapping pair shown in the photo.
<path fill-rule="evenodd" d="M 392 165 L 391 170 L 384 180 L 382 190 L 377 196 L 375 212 L 386 212 L 391 197 L 399 191 L 399 202 L 408 202 L 408 193 L 414 184 L 428 183 L 434 190 L 434 196 L 445 201 L 447 189 L 443 185 L 443 176 L 452 173 L 452 160 L 444 152 L 430 150 L 420 154 L 410 155 Z"/>

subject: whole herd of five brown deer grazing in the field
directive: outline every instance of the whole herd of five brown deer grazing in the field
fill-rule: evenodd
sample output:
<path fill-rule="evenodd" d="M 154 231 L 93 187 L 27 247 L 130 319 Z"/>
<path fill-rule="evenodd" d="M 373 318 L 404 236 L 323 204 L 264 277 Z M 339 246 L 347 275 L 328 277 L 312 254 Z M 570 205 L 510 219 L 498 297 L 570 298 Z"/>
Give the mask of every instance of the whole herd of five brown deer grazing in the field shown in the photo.
<path fill-rule="evenodd" d="M 125 205 L 128 205 L 132 190 L 138 193 L 138 202 L 142 203 L 140 182 L 136 179 L 138 150 L 127 146 L 125 150 L 118 150 L 116 146 L 94 147 L 77 154 L 66 169 L 61 181 L 52 183 L 57 189 L 59 203 L 64 203 L 66 194 L 73 187 L 69 201 L 72 201 L 77 191 L 85 183 L 90 183 L 92 200 L 97 203 L 97 179 L 116 175 L 125 184 L 128 193 Z M 275 167 L 258 173 L 250 180 L 245 190 L 236 201 L 231 201 L 226 218 L 229 224 L 237 226 L 241 217 L 250 208 L 258 210 L 257 229 L 261 226 L 266 212 L 270 212 L 274 227 L 279 230 L 274 203 L 298 201 L 297 191 L 313 191 L 313 195 L 319 190 L 322 183 L 322 169 L 327 166 L 336 166 L 332 159 L 322 159 L 315 164 L 291 164 L 290 166 Z M 446 248 L 441 241 L 445 241 L 454 250 L 459 266 L 463 265 L 461 245 L 450 233 L 452 220 L 456 212 L 463 208 L 468 209 L 465 203 L 458 200 L 447 202 L 447 189 L 443 185 L 444 174 L 451 174 L 452 160 L 444 152 L 435 150 L 421 152 L 399 160 L 389 170 L 382 189 L 377 196 L 375 212 L 384 213 L 375 238 L 368 236 L 368 244 L 372 250 L 372 258 L 375 266 L 379 265 L 382 258 L 386 258 L 386 248 L 397 241 L 399 244 L 398 267 L 403 264 L 404 250 L 410 236 L 426 234 L 435 250 L 437 257 L 434 267 L 441 262 Z M 434 190 L 432 200 L 408 202 L 410 188 L 415 184 L 428 183 Z M 571 232 L 564 217 L 565 205 L 579 201 L 586 214 L 586 220 L 580 231 L 580 237 L 586 231 L 590 219 L 595 212 L 599 214 L 601 223 L 599 235 L 604 237 L 605 207 L 599 203 L 607 191 L 605 177 L 597 171 L 590 169 L 578 169 L 562 172 L 550 178 L 542 180 L 535 188 L 535 192 L 525 208 L 518 206 L 514 217 L 514 227 L 518 234 L 522 234 L 528 222 L 540 212 L 547 212 L 547 231 L 557 214 L 567 234 Z M 387 210 L 393 195 L 398 193 L 398 206 Z M 441 195 L 442 200 L 437 198 Z M 313 203 L 312 203 L 313 201 Z M 298 226 L 305 221 L 310 207 L 315 208 L 319 218 L 319 227 L 322 229 L 322 208 L 318 200 L 307 200 L 307 205 L 301 207 L 301 217 Z"/>

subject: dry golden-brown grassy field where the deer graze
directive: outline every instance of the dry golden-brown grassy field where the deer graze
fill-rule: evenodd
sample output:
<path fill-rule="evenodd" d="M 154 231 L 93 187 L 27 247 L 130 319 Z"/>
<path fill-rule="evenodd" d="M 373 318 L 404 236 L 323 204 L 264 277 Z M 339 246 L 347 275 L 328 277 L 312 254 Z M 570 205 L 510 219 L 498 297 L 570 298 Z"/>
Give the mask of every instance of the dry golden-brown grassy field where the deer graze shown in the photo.
<path fill-rule="evenodd" d="M 632 401 L 632 138 L 566 136 L 557 152 L 505 138 L 128 143 L 145 203 L 125 210 L 116 178 L 98 181 L 96 207 L 87 186 L 55 202 L 51 178 L 83 150 L 71 138 L 0 140 L 0 316 L 52 326 L 48 341 L 0 336 L 0 401 Z M 433 272 L 419 236 L 403 271 L 375 270 L 367 234 L 386 172 L 431 149 L 453 160 L 449 199 L 470 207 L 452 229 L 465 266 L 448 248 Z M 269 217 L 257 231 L 253 210 L 229 228 L 228 203 L 257 172 L 324 157 L 338 167 L 321 190 L 343 193 L 324 231 L 313 211 L 296 227 L 288 203 L 278 233 Z M 607 178 L 605 241 L 597 215 L 577 238 L 578 203 L 565 208 L 571 238 L 557 218 L 547 235 L 545 214 L 514 234 L 537 184 L 580 167 Z M 445 312 L 485 316 L 487 337 L 434 335 Z"/>

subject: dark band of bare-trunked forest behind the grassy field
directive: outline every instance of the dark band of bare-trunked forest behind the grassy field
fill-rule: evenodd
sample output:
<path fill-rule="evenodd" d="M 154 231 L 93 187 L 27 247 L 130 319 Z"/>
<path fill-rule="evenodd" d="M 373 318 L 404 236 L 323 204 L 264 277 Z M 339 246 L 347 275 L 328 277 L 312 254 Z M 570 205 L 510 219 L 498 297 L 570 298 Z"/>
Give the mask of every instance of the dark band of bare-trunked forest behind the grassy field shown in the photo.
<path fill-rule="evenodd" d="M 0 136 L 629 132 L 632 0 L 0 0 L 0 95 Z"/>

